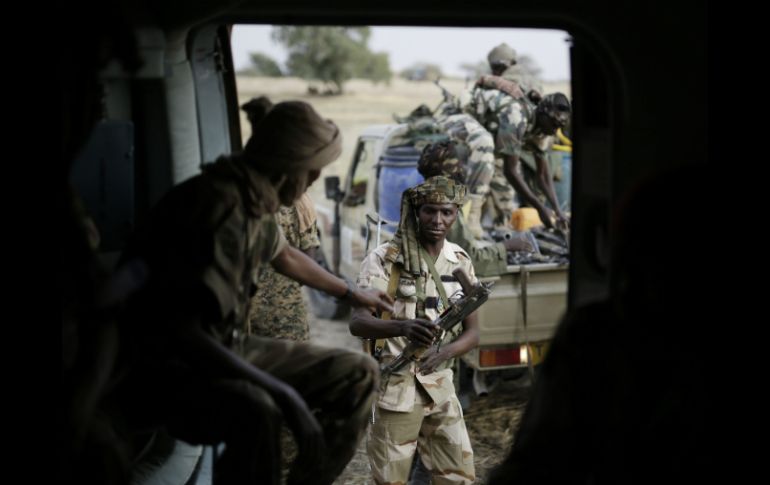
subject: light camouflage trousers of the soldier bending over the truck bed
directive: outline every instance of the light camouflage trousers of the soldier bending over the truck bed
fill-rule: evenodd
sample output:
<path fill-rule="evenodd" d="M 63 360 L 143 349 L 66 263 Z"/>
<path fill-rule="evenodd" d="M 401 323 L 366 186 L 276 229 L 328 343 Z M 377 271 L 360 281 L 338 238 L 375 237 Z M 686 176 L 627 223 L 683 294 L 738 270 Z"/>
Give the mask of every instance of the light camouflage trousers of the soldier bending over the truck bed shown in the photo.
<path fill-rule="evenodd" d="M 487 195 L 495 164 L 492 135 L 468 114 L 456 114 L 439 122 L 439 127 L 458 145 L 468 148 L 465 185 L 469 194 Z"/>

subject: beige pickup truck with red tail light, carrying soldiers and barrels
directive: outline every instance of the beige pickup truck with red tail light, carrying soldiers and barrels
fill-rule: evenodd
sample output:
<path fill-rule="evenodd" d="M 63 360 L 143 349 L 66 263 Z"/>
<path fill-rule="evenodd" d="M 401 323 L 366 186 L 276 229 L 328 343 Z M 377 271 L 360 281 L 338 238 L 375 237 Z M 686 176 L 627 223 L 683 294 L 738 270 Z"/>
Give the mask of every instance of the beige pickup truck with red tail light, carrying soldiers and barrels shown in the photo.
<path fill-rule="evenodd" d="M 333 209 L 319 207 L 323 251 L 320 258 L 332 271 L 355 281 L 365 254 L 390 238 L 398 224 L 401 192 L 422 181 L 416 170 L 419 150 L 402 145 L 406 124 L 373 125 L 358 138 L 344 185 L 325 179 L 326 197 Z M 567 305 L 568 265 L 536 263 L 509 265 L 494 282 L 492 294 L 479 310 L 479 346 L 466 354 L 458 374 L 472 379 L 476 393 L 505 374 L 539 364 L 548 349 Z M 334 300 L 314 293 L 316 315 L 345 315 Z M 459 359 L 458 359 L 459 360 Z"/>

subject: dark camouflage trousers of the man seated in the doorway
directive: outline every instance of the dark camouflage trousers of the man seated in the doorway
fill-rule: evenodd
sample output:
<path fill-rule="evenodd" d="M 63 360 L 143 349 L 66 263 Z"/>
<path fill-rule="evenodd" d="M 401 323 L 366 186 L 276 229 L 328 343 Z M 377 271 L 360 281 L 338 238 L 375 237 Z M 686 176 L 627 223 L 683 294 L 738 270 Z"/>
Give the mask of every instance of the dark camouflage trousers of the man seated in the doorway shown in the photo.
<path fill-rule="evenodd" d="M 360 352 L 304 342 L 248 337 L 241 346 L 246 360 L 302 395 L 323 429 L 323 458 L 310 469 L 292 469 L 289 483 L 332 483 L 366 430 L 378 388 L 377 363 Z"/>

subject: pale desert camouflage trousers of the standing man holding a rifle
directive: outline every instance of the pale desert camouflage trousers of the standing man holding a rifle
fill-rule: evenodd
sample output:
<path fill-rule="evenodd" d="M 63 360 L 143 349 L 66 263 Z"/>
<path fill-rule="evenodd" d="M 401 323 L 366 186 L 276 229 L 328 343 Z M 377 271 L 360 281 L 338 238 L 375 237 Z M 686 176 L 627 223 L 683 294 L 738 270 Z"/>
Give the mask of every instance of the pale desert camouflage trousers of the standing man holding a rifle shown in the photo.
<path fill-rule="evenodd" d="M 375 483 L 406 484 L 418 448 L 433 485 L 473 483 L 473 450 L 457 396 L 436 405 L 419 385 L 418 393 L 423 398 L 411 412 L 377 408 L 366 447 Z"/>

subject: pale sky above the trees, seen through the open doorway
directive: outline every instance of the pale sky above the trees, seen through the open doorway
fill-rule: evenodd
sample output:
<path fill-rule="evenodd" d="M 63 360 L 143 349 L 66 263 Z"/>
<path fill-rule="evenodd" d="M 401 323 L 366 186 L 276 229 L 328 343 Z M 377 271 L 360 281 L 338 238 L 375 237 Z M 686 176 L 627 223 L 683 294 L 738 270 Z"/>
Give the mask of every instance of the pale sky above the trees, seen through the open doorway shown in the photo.
<path fill-rule="evenodd" d="M 249 66 L 249 52 L 262 52 L 281 67 L 286 50 L 270 38 L 269 25 L 238 25 L 233 29 L 233 61 L 236 70 Z M 462 76 L 462 63 L 485 61 L 501 42 L 519 55 L 532 57 L 543 70 L 544 81 L 570 78 L 569 34 L 563 30 L 489 29 L 460 27 L 372 27 L 369 48 L 388 52 L 390 67 L 398 72 L 417 62 L 438 64 L 445 74 Z"/>

